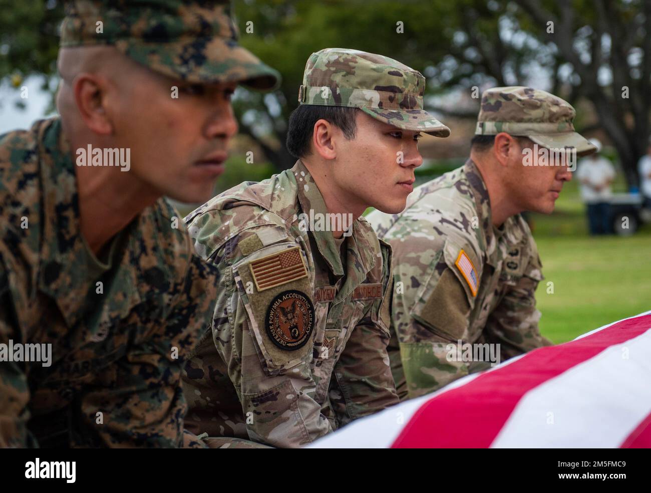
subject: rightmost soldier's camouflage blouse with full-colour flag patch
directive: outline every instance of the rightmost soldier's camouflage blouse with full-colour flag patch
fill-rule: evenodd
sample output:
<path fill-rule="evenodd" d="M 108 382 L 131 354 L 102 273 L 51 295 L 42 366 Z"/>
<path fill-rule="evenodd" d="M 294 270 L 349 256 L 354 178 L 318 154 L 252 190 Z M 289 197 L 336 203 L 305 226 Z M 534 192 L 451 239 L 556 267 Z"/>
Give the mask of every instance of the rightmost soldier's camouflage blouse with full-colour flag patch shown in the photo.
<path fill-rule="evenodd" d="M 389 356 L 400 399 L 488 367 L 450 361 L 450 343 L 499 343 L 501 359 L 551 344 L 538 331 L 543 277 L 531 231 L 519 214 L 493 227 L 475 163 L 414 190 L 400 214 L 368 221 L 393 248 Z"/>

